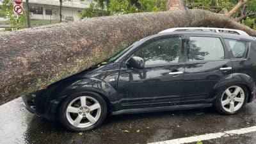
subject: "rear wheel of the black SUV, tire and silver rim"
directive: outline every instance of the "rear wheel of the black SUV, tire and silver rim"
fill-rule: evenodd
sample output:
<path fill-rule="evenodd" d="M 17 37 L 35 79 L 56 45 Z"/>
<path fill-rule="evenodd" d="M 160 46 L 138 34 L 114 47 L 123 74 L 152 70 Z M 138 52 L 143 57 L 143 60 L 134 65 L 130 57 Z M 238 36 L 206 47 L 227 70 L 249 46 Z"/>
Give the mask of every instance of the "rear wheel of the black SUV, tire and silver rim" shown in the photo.
<path fill-rule="evenodd" d="M 223 115 L 234 115 L 248 100 L 248 89 L 241 84 L 221 88 L 216 97 L 215 107 Z"/>

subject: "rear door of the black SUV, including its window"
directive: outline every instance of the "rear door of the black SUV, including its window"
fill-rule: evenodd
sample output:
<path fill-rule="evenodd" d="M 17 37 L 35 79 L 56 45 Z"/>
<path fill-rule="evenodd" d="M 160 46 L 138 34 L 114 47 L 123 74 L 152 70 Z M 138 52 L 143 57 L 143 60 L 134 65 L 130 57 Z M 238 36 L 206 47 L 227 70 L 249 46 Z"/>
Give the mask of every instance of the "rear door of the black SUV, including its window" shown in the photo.
<path fill-rule="evenodd" d="M 182 104 L 204 104 L 214 85 L 232 73 L 221 36 L 188 35 Z"/>

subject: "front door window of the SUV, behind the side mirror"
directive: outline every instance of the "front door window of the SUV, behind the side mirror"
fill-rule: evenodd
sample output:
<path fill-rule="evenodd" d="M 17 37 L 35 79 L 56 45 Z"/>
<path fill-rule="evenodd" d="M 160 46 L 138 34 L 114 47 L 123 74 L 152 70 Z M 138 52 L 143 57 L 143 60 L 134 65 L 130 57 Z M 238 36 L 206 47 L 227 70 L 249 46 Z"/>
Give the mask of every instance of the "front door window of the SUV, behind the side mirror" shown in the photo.
<path fill-rule="evenodd" d="M 178 63 L 181 48 L 181 36 L 165 37 L 144 45 L 134 56 L 143 58 L 145 66 Z"/>

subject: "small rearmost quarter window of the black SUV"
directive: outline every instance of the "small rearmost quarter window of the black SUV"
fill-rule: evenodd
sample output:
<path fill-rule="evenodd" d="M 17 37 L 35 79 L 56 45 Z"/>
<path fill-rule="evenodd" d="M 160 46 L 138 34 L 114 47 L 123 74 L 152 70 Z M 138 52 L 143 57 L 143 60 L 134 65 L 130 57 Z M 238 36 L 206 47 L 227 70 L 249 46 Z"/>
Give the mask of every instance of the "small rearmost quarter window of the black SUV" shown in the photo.
<path fill-rule="evenodd" d="M 231 58 L 244 58 L 246 53 L 247 42 L 242 40 L 225 39 L 228 50 L 231 51 Z"/>

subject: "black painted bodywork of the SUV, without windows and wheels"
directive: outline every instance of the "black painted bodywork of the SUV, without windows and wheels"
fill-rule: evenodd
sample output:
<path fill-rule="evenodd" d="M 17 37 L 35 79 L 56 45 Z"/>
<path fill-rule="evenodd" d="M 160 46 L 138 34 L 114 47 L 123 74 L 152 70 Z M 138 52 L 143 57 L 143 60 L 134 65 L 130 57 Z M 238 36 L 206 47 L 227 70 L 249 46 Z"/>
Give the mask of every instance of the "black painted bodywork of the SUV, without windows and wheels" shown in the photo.
<path fill-rule="evenodd" d="M 180 36 L 182 49 L 179 63 L 130 68 L 127 61 L 150 40 L 164 36 Z M 189 36 L 220 38 L 225 56 L 218 61 L 188 61 Z M 225 38 L 248 42 L 244 58 L 230 58 Z M 220 68 L 232 67 L 221 71 Z M 170 76 L 170 72 L 184 72 Z M 229 84 L 244 84 L 250 92 L 248 102 L 255 99 L 256 41 L 251 36 L 182 31 L 161 33 L 143 38 L 131 49 L 99 67 L 51 84 L 45 90 L 24 95 L 29 111 L 52 120 L 58 106 L 70 93 L 96 92 L 102 95 L 113 115 L 170 109 L 212 106 L 216 93 Z M 28 98 L 29 97 L 29 98 Z M 35 106 L 35 109 L 31 109 Z"/>

